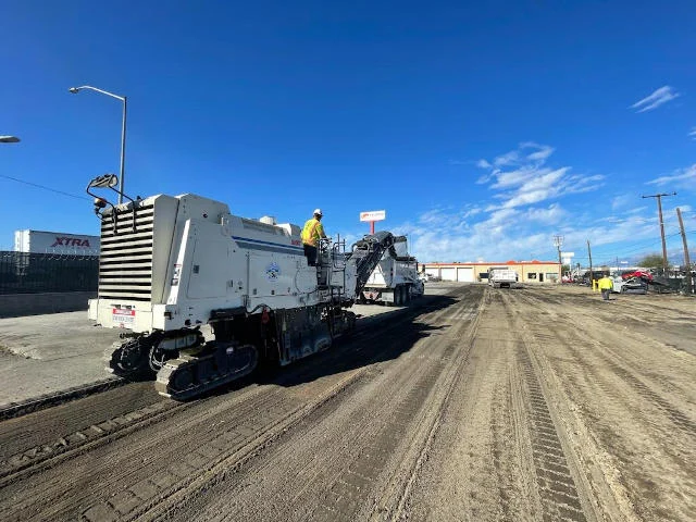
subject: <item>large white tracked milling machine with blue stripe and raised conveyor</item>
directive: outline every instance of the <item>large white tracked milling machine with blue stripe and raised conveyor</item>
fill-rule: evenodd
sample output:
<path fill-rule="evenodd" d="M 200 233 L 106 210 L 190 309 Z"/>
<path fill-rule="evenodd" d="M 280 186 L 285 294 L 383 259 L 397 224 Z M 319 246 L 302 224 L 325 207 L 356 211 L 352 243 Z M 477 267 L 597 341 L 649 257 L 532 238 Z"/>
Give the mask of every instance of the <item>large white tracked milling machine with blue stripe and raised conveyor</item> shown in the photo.
<path fill-rule="evenodd" d="M 115 184 L 114 175 L 99 176 L 87 192 L 116 191 Z M 259 360 L 284 365 L 328 348 L 355 327 L 346 308 L 393 243 L 378 233 L 346 253 L 340 241 L 323 241 L 319 266 L 310 266 L 299 226 L 239 217 L 199 196 L 117 206 L 96 197 L 95 212 L 101 254 L 89 318 L 125 328 L 107 353 L 108 370 L 157 374 L 158 391 L 176 399 L 239 378 Z M 203 338 L 206 323 L 214 340 Z"/>

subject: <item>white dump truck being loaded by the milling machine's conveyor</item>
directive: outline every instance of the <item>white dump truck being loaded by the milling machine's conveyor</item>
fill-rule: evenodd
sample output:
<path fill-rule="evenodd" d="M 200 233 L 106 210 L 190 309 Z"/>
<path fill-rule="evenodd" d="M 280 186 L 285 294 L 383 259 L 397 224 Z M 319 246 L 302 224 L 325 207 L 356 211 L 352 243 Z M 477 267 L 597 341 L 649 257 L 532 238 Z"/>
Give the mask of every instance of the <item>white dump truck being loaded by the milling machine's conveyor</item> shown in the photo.
<path fill-rule="evenodd" d="M 385 249 L 359 298 L 361 301 L 401 306 L 423 291 L 423 282 L 418 277 L 418 261 L 409 256 L 407 237 L 395 236 L 394 244 Z"/>

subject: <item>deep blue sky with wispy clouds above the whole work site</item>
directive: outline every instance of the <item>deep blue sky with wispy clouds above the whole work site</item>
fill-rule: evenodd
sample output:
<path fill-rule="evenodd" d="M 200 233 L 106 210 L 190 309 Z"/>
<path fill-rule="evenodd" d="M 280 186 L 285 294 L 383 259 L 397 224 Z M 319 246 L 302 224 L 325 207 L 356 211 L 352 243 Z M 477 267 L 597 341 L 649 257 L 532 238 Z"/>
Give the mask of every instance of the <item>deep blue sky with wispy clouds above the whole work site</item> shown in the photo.
<path fill-rule="evenodd" d="M 0 0 L 0 247 L 96 234 L 87 182 L 194 192 L 330 234 L 407 233 L 421 261 L 586 264 L 696 248 L 696 5 Z M 20 183 L 11 178 L 21 179 Z M 29 184 L 44 185 L 65 196 Z M 380 226 L 378 226 L 380 227 Z M 694 253 L 692 253 L 692 257 Z"/>

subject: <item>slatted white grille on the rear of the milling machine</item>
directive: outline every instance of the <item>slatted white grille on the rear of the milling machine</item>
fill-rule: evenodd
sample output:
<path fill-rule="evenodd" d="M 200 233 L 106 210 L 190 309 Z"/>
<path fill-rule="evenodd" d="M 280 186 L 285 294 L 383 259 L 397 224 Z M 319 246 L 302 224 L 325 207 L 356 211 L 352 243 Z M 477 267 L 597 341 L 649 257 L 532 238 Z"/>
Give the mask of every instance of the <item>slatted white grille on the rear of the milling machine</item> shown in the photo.
<path fill-rule="evenodd" d="M 99 298 L 150 301 L 152 299 L 152 239 L 154 204 L 119 211 L 101 221 Z"/>

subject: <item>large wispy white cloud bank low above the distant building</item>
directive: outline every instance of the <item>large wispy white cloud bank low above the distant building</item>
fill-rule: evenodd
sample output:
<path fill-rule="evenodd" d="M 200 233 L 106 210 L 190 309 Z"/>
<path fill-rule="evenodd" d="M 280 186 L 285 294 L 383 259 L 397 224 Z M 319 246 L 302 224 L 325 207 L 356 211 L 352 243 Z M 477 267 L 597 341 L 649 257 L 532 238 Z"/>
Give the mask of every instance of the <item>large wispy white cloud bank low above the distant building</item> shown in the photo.
<path fill-rule="evenodd" d="M 393 229 L 409 235 L 411 253 L 421 262 L 554 261 L 556 234 L 564 236 L 563 249 L 577 252 L 576 261 L 583 265 L 588 239 L 595 264 L 659 250 L 655 204 L 642 200 L 639 191 L 627 194 L 623 186 L 611 191 L 613 187 L 605 186 L 600 174 L 552 164 L 554 153 L 552 147 L 521 142 L 515 150 L 481 160 L 476 164 L 485 175 L 480 182 L 488 197 L 482 198 L 484 187 L 478 187 L 477 199 L 469 204 L 430 209 Z M 696 164 L 651 183 L 670 184 L 671 191 L 676 183 L 696 187 L 695 176 Z M 589 194 L 599 187 L 604 187 L 601 194 Z M 568 197 L 583 194 L 587 196 Z M 669 200 L 668 206 L 682 209 L 692 223 L 687 226 L 696 226 L 696 213 L 688 206 L 676 204 L 678 198 Z M 667 232 L 674 234 L 675 212 L 668 207 L 663 212 Z"/>

